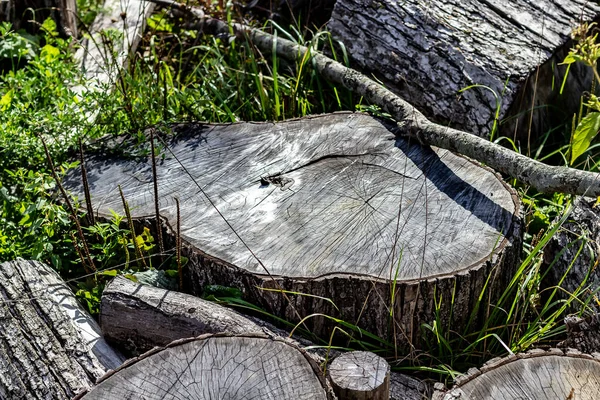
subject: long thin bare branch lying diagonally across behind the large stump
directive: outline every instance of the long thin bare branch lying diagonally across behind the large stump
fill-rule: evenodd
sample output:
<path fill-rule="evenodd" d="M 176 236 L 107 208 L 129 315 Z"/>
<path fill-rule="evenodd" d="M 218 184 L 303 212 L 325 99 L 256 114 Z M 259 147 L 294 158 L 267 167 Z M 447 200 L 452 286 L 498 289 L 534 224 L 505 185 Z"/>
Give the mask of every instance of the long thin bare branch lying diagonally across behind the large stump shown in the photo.
<path fill-rule="evenodd" d="M 329 81 L 363 96 L 380 106 L 397 122 L 402 133 L 414 137 L 422 144 L 447 149 L 480 161 L 497 171 L 533 186 L 540 192 L 562 192 L 576 195 L 600 196 L 600 174 L 568 167 L 546 165 L 516 153 L 486 139 L 457 129 L 434 124 L 415 107 L 380 84 L 358 71 L 345 67 L 331 58 L 314 52 L 292 41 L 275 37 L 247 25 L 233 23 L 230 26 L 221 20 L 202 17 L 202 12 L 169 0 L 148 0 L 162 6 L 187 10 L 197 22 L 188 28 L 208 33 L 229 34 L 231 30 L 239 38 L 248 38 L 265 53 L 273 48 L 279 57 L 288 60 L 302 59 L 307 52 L 312 55 L 312 65 Z M 275 46 L 273 42 L 276 41 Z"/>

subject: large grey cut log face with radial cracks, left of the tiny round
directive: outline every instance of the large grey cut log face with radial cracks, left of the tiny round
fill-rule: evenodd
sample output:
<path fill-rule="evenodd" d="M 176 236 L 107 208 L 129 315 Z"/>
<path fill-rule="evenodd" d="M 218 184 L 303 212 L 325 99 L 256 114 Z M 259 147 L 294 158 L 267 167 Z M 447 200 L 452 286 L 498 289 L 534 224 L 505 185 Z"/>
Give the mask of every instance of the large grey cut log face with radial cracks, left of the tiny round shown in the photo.
<path fill-rule="evenodd" d="M 82 398 L 334 399 L 318 365 L 264 336 L 204 336 L 131 360 Z"/>

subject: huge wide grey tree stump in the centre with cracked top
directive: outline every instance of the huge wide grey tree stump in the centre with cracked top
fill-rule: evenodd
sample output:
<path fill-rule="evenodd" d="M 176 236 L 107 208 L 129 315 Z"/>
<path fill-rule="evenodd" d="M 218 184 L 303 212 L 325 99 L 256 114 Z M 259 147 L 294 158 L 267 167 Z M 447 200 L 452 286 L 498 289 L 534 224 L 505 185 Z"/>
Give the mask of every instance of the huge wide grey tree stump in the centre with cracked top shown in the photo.
<path fill-rule="evenodd" d="M 515 193 L 492 171 L 409 144 L 382 121 L 339 113 L 175 130 L 167 145 L 179 161 L 164 150 L 159 205 L 176 226 L 173 198 L 181 200 L 185 282 L 195 294 L 208 283 L 235 286 L 292 321 L 325 313 L 382 336 L 393 328 L 406 343 L 433 319 L 436 299 L 441 318 L 461 329 L 488 277 L 499 295 L 514 270 Z M 154 214 L 149 160 L 95 156 L 87 171 L 100 214 L 123 212 L 118 185 L 134 216 Z M 83 198 L 77 173 L 65 184 Z M 331 329 L 325 318 L 306 325 L 323 336 Z"/>

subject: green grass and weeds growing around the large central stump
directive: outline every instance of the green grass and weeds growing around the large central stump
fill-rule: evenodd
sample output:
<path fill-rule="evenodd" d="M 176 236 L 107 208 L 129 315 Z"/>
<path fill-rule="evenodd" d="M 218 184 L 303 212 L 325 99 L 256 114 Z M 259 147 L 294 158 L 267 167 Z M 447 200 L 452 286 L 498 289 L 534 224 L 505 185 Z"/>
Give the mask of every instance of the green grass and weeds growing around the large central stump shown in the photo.
<path fill-rule="evenodd" d="M 79 5 L 84 10 L 85 26 L 97 12 L 98 2 L 80 0 Z M 230 9 L 222 11 L 229 20 L 233 18 Z M 312 50 L 336 48 L 326 32 L 305 40 L 298 29 L 286 31 L 274 24 L 266 24 L 265 29 Z M 79 233 L 73 221 L 74 217 L 82 219 L 83 214 L 73 216 L 57 202 L 56 182 L 40 137 L 48 143 L 51 159 L 62 175 L 75 165 L 69 160 L 77 154 L 79 140 L 89 145 L 106 136 L 122 135 L 128 138 L 127 145 L 134 147 L 126 151 L 147 155 L 144 129 L 149 126 L 198 120 L 280 121 L 357 107 L 378 111 L 376 107 L 360 105 L 360 99 L 352 93 L 324 81 L 312 68 L 310 57 L 295 63 L 277 56 L 263 57 L 250 43 L 223 36 L 200 36 L 181 29 L 164 12 L 151 18 L 141 50 L 129 67 L 120 71 L 114 87 L 82 95 L 73 89 L 86 84 L 76 72 L 73 43 L 57 37 L 51 22 L 44 24 L 43 32 L 42 36 L 31 38 L 10 31 L 7 25 L 0 29 L 0 56 L 4 57 L 2 65 L 6 68 L 0 75 L 0 262 L 24 257 L 53 265 L 73 284 L 92 312 L 97 312 L 107 277 L 117 271 L 132 274 L 141 268 L 140 258 L 156 266 L 156 244 L 149 231 L 134 228 L 118 215 L 112 221 L 84 224 Z M 13 46 L 11 52 L 3 49 L 9 43 Z M 338 56 L 347 59 L 343 47 Z M 499 96 L 496 99 L 499 109 Z M 96 115 L 93 121 L 88 118 L 91 113 Z M 581 119 L 574 120 L 573 129 Z M 496 118 L 494 134 L 499 123 Z M 558 127 L 549 131 L 533 154 L 540 160 L 558 160 L 565 165 L 577 161 L 576 167 L 597 170 L 600 161 L 592 160 L 599 144 L 590 141 L 580 154 L 586 157 L 575 160 L 570 157 L 572 143 L 555 139 L 556 132 L 570 129 Z M 518 150 L 510 139 L 495 140 Z M 523 187 L 519 190 L 528 228 L 524 257 L 499 301 L 488 301 L 492 286 L 488 282 L 473 310 L 473 325 L 461 332 L 446 326 L 438 313 L 435 320 L 421 327 L 427 351 L 404 357 L 394 364 L 395 368 L 449 379 L 494 356 L 554 343 L 564 331 L 562 319 L 570 312 L 570 306 L 584 310 L 581 304 L 588 301 L 583 290 L 585 283 L 566 300 L 559 296 L 559 288 L 546 289 L 542 296 L 539 287 L 542 250 L 568 218 L 570 199 L 562 195 L 542 196 Z M 93 265 L 86 261 L 86 252 Z M 173 252 L 166 256 L 167 269 L 176 273 Z M 392 275 L 397 276 L 399 268 L 400 264 Z M 264 313 L 239 296 L 211 296 L 213 300 Z M 543 303 L 542 298 L 546 299 Z M 454 302 L 453 298 L 435 300 L 438 304 Z M 395 299 L 390 301 L 393 304 Z M 392 307 L 393 319 L 391 310 Z M 475 326 L 476 314 L 481 312 L 486 315 L 485 323 Z M 315 316 L 306 318 L 312 317 Z M 346 338 L 342 347 L 368 349 L 391 359 L 402 357 L 394 343 L 385 338 L 346 321 L 335 322 L 338 328 L 330 338 L 315 339 L 319 344 L 331 346 L 336 334 Z"/>

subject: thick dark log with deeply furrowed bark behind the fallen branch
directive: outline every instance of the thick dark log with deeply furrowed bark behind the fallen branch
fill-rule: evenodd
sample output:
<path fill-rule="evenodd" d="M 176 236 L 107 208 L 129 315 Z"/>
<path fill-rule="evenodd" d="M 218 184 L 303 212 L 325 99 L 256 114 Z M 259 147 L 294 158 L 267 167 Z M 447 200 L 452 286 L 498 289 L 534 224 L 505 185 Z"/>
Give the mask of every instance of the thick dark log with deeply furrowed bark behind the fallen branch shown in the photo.
<path fill-rule="evenodd" d="M 428 1 L 338 0 L 328 28 L 345 44 L 353 64 L 434 120 L 488 136 L 501 97 L 502 134 L 523 140 L 529 128 L 545 132 L 579 109 L 592 72 L 557 66 L 571 30 L 600 15 L 585 0 Z M 530 110 L 535 108 L 530 126 Z M 560 121 L 560 120 L 558 120 Z"/>

